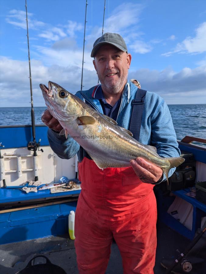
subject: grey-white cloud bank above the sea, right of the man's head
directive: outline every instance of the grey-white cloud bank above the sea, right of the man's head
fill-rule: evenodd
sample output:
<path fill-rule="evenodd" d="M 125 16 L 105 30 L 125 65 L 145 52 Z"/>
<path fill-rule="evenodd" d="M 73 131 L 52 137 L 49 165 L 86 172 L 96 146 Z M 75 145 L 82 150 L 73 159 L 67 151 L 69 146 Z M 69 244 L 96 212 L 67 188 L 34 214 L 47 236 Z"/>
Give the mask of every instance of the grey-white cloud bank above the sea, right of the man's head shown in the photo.
<path fill-rule="evenodd" d="M 167 104 L 206 103 L 206 65 L 180 72 L 171 67 L 162 71 L 139 69 L 130 72 L 129 78 L 137 79 L 143 89 L 158 93 Z"/>

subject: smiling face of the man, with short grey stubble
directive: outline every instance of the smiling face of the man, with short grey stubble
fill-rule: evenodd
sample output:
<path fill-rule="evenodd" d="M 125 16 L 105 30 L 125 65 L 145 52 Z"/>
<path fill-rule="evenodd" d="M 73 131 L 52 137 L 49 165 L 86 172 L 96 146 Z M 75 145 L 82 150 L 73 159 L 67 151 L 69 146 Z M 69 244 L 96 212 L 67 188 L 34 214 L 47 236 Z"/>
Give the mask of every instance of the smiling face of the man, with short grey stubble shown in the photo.
<path fill-rule="evenodd" d="M 103 91 L 115 94 L 123 90 L 130 63 L 131 54 L 117 47 L 105 44 L 98 49 L 93 64 Z"/>

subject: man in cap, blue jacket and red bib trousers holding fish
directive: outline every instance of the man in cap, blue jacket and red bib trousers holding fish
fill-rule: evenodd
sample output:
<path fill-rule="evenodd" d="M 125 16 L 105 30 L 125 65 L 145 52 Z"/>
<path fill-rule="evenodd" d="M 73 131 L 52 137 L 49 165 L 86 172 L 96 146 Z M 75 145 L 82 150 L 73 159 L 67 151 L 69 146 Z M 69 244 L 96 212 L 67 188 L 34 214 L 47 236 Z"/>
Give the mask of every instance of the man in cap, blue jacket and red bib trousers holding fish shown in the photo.
<path fill-rule="evenodd" d="M 123 38 L 117 33 L 105 33 L 95 41 L 91 57 L 101 85 L 79 91 L 76 96 L 129 129 L 132 102 L 141 90 L 127 81 L 131 54 Z M 162 157 L 178 157 L 167 105 L 152 92 L 146 92 L 144 98 L 139 142 L 155 146 Z M 131 167 L 99 169 L 74 139 L 58 135 L 62 127 L 48 110 L 42 121 L 49 127 L 48 139 L 54 152 L 66 159 L 78 153 L 80 161 L 82 191 L 75 213 L 79 273 L 105 273 L 113 237 L 125 274 L 154 273 L 157 214 L 153 187 L 165 179 L 161 168 L 137 158 L 131 160 Z"/>

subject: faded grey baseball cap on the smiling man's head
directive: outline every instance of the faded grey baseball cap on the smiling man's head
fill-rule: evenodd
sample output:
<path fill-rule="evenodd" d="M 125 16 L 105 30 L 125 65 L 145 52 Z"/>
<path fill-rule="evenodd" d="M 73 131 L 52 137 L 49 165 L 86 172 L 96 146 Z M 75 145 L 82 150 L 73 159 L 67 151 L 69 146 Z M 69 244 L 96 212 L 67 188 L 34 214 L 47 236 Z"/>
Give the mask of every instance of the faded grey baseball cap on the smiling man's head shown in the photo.
<path fill-rule="evenodd" d="M 127 45 L 121 35 L 106 32 L 94 42 L 91 57 L 95 57 L 98 48 L 103 44 L 110 44 L 117 47 L 121 51 L 127 52 Z"/>

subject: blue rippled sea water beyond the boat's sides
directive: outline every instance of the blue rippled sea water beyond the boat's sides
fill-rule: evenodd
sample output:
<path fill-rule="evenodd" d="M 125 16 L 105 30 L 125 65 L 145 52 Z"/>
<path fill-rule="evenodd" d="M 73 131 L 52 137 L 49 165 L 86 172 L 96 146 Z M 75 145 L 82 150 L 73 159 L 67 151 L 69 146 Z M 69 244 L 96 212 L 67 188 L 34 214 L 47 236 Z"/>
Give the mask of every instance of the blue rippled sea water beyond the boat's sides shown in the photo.
<path fill-rule="evenodd" d="M 168 105 L 168 107 L 177 140 L 183 139 L 186 135 L 206 139 L 206 104 Z M 34 107 L 36 125 L 43 124 L 41 114 L 45 109 L 46 107 Z M 31 125 L 31 108 L 1 107 L 0 125 Z"/>

